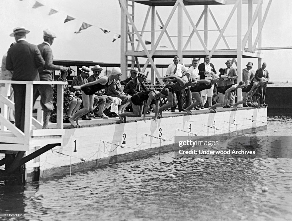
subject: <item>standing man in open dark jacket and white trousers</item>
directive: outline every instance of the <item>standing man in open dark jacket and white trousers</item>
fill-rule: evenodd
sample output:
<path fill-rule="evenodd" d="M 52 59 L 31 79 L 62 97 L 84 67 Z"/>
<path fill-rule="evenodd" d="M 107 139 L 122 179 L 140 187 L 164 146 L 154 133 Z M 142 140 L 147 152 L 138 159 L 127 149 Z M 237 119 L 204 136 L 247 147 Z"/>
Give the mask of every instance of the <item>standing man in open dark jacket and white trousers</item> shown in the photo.
<path fill-rule="evenodd" d="M 210 63 L 210 60 L 211 60 L 211 56 L 206 55 L 204 63 L 199 64 L 198 69 L 199 69 L 200 80 L 204 80 L 204 79 L 212 80 L 212 75 L 217 73 L 215 71 L 214 65 Z M 203 90 L 201 92 L 202 102 L 203 102 L 201 106 L 202 109 L 204 109 L 204 105 L 206 104 L 206 101 L 207 101 L 206 97 L 208 98 L 209 107 L 212 106 L 213 89 L 214 89 L 214 85 L 212 85 L 210 89 Z"/>

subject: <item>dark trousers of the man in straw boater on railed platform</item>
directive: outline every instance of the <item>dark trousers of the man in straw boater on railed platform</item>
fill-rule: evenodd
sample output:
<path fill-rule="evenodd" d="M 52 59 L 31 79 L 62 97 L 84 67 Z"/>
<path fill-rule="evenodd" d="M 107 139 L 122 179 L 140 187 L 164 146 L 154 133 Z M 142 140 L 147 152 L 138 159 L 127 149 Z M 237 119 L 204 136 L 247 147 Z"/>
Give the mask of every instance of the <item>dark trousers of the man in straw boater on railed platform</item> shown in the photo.
<path fill-rule="evenodd" d="M 14 91 L 15 126 L 24 132 L 25 118 L 25 87 L 26 85 L 11 84 Z M 34 86 L 34 93 L 37 88 Z"/>

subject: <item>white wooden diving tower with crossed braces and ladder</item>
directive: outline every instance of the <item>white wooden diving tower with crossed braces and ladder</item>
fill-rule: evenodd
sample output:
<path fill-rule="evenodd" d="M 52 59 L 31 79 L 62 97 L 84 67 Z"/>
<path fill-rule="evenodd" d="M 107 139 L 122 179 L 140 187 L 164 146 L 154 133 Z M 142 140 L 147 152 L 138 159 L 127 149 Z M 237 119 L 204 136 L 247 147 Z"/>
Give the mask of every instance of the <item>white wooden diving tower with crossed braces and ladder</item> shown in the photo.
<path fill-rule="evenodd" d="M 267 7 L 264 14 L 263 11 L 263 1 L 267 1 Z M 147 65 L 151 64 L 151 83 L 154 83 L 154 73 L 159 78 L 160 74 L 155 65 L 155 58 L 173 58 L 178 55 L 180 58 L 203 58 L 206 55 L 211 55 L 213 58 L 232 58 L 233 62 L 237 65 L 237 69 L 242 69 L 242 58 L 258 58 L 258 66 L 261 66 L 263 54 L 260 48 L 262 47 L 262 29 L 265 23 L 267 13 L 270 9 L 272 0 L 119 0 L 121 6 L 121 70 L 122 73 L 127 73 L 127 64 L 131 62 L 131 66 L 137 66 L 142 72 L 145 71 Z M 135 24 L 135 7 L 139 4 L 144 4 L 148 6 L 148 10 L 145 16 L 142 29 L 138 29 L 138 25 Z M 248 11 L 243 12 L 243 5 L 247 4 Z M 197 21 L 192 20 L 192 15 L 190 14 L 188 8 L 204 5 L 203 11 L 199 11 L 200 15 Z M 225 20 L 223 27 L 218 24 L 210 5 L 233 5 L 229 16 L 222 18 Z M 169 11 L 169 16 L 166 21 L 163 21 L 159 15 L 159 10 L 162 6 L 172 6 Z M 222 10 L 220 8 L 220 10 Z M 230 9 L 227 7 L 226 10 Z M 163 8 L 169 10 L 169 7 Z M 177 30 L 177 41 L 174 42 L 168 33 L 169 23 L 173 18 L 173 15 L 177 11 L 177 27 L 171 27 Z M 237 12 L 237 15 L 234 15 Z M 151 14 L 151 30 L 146 30 L 147 20 Z M 187 17 L 187 20 L 191 25 L 191 33 L 187 36 L 183 33 L 183 15 Z M 247 18 L 246 18 L 247 15 Z M 139 15 L 141 16 L 141 15 Z M 211 18 L 210 18 L 211 17 Z M 210 18 L 210 19 L 209 19 Z M 158 19 L 158 20 L 157 20 Z M 203 20 L 204 29 L 198 30 L 200 22 Z M 209 29 L 209 20 L 213 20 L 216 29 Z M 232 26 L 236 29 L 236 35 L 233 37 L 237 38 L 237 47 L 230 48 L 228 40 L 232 36 L 228 36 L 226 29 L 231 26 L 231 20 L 236 20 L 237 27 Z M 257 27 L 254 27 L 256 24 Z M 157 23 L 156 23 L 157 22 Z M 248 23 L 247 30 L 243 32 L 244 22 Z M 157 26 L 161 29 L 157 30 Z M 140 26 L 139 26 L 140 27 Z M 245 26 L 244 26 L 245 27 Z M 257 28 L 256 37 L 253 38 L 253 29 Z M 145 32 L 151 32 L 151 50 L 146 47 L 146 42 L 143 38 Z M 214 45 L 208 44 L 210 31 L 215 33 L 217 31 L 218 37 Z M 203 33 L 203 34 L 200 34 Z M 159 44 L 161 44 L 161 38 L 166 35 L 169 43 L 171 44 L 170 50 L 161 50 Z M 183 38 L 186 37 L 186 38 Z M 196 50 L 190 50 L 189 44 L 192 38 L 197 37 L 197 41 L 200 42 L 201 48 Z M 135 41 L 135 39 L 138 40 Z M 218 44 L 220 40 L 224 41 L 225 48 L 219 48 Z M 149 41 L 149 39 L 148 39 Z M 147 42 L 149 43 L 149 42 Z M 142 50 L 140 48 L 142 47 Z M 256 48 L 257 47 L 257 48 Z M 160 50 L 159 50 L 160 49 Z M 144 66 L 139 65 L 138 58 L 147 58 Z M 182 61 L 182 59 L 181 59 Z M 241 73 L 241 71 L 239 72 Z M 123 76 L 125 77 L 125 75 Z M 239 81 L 242 79 L 241 74 L 238 76 Z M 241 93 L 239 94 L 239 99 L 241 99 Z"/>

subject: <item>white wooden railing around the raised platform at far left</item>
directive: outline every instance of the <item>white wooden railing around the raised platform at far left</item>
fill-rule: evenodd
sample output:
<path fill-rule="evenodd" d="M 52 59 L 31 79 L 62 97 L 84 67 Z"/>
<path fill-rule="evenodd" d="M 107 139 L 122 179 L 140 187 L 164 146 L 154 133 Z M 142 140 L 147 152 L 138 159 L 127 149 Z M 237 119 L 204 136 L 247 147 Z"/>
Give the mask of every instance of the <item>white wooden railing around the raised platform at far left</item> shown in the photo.
<path fill-rule="evenodd" d="M 18 81 L 18 80 L 0 80 L 0 84 L 5 84 L 1 87 L 0 94 L 1 100 L 0 107 L 0 122 L 1 122 L 1 131 L 6 131 L 7 128 L 11 129 L 11 132 L 14 136 L 19 137 L 22 132 L 11 124 L 8 121 L 8 105 L 14 104 L 8 99 L 10 95 L 10 84 L 25 84 L 26 85 L 26 94 L 25 94 L 25 128 L 24 128 L 24 144 L 29 144 L 30 134 L 32 130 L 32 125 L 36 120 L 32 120 L 32 103 L 33 103 L 33 85 L 57 85 L 57 129 L 63 129 L 63 94 L 64 87 L 67 82 L 62 81 Z M 11 108 L 11 105 L 10 105 Z M 14 109 L 14 107 L 12 108 Z M 39 127 L 36 127 L 39 128 Z"/>

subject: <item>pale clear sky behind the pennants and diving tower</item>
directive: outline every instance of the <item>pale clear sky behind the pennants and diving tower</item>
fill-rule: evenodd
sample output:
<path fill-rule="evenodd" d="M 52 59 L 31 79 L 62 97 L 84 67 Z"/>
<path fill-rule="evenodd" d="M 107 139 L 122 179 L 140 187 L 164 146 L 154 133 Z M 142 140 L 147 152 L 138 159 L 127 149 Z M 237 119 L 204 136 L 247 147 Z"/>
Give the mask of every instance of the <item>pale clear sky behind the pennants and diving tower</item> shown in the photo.
<path fill-rule="evenodd" d="M 109 62 L 120 63 L 120 39 L 112 42 L 114 33 L 120 33 L 120 6 L 118 0 L 39 0 L 44 6 L 39 8 L 32 8 L 35 0 L 0 0 L 0 18 L 1 18 L 1 32 L 0 32 L 0 55 L 4 55 L 9 45 L 14 42 L 14 38 L 10 37 L 13 28 L 25 26 L 30 33 L 27 34 L 27 41 L 33 44 L 39 44 L 43 41 L 43 30 L 52 29 L 58 36 L 51 46 L 53 50 L 54 59 L 63 60 L 82 60 L 94 62 Z M 267 6 L 268 0 L 264 0 L 263 14 Z M 232 5 L 210 6 L 216 17 L 220 27 L 223 27 L 231 9 Z M 53 8 L 58 13 L 48 15 L 50 9 Z M 135 24 L 139 30 L 142 29 L 142 24 L 147 12 L 148 6 L 135 3 Z M 254 5 L 254 10 L 256 4 Z M 166 22 L 168 15 L 172 9 L 171 6 L 156 7 L 161 19 Z M 193 18 L 194 23 L 197 22 L 203 6 L 187 6 L 187 10 Z M 263 47 L 283 47 L 292 46 L 291 30 L 292 30 L 292 1 L 290 0 L 273 0 L 270 11 L 267 15 L 265 25 L 263 27 Z M 76 18 L 75 20 L 66 22 L 66 16 Z M 243 6 L 243 33 L 247 30 L 247 5 Z M 79 34 L 74 34 L 81 27 L 82 22 L 93 25 L 88 29 L 81 31 Z M 169 27 L 167 28 L 171 36 L 177 35 L 176 28 L 177 17 L 176 13 L 173 16 Z M 147 22 L 146 30 L 150 30 L 150 19 Z M 157 19 L 155 29 L 159 29 L 159 20 Z M 189 35 L 192 30 L 190 23 L 186 16 L 183 17 L 183 35 Z M 203 22 L 200 23 L 198 29 L 203 29 Z M 107 29 L 110 32 L 104 34 L 99 28 Z M 209 16 L 209 29 L 216 29 L 215 25 Z M 257 22 L 253 31 L 253 37 L 256 36 Z M 226 29 L 227 35 L 236 35 L 236 12 L 234 13 L 230 25 Z M 159 32 L 155 32 L 156 38 Z M 200 32 L 203 38 L 203 32 Z M 211 50 L 213 44 L 218 36 L 218 31 L 209 31 L 208 49 Z M 177 41 L 176 37 L 172 40 Z M 143 40 L 151 41 L 150 32 L 145 33 Z M 184 41 L 186 37 L 184 37 Z M 236 37 L 227 37 L 227 41 L 231 48 L 236 48 Z M 171 49 L 171 44 L 164 35 L 159 45 L 165 45 Z M 175 43 L 176 45 L 176 43 Z M 188 49 L 201 49 L 201 45 L 197 37 L 193 37 Z M 147 45 L 150 49 L 150 45 Z M 223 41 L 219 43 L 219 48 L 225 48 Z M 163 48 L 158 48 L 163 50 Z M 140 49 L 141 50 L 141 49 Z M 292 81 L 292 75 L 289 73 L 291 49 L 287 50 L 269 50 L 263 51 L 263 62 L 267 63 L 267 70 L 270 73 L 270 81 Z M 194 55 L 196 57 L 196 55 Z M 215 69 L 225 68 L 227 59 L 211 59 Z M 145 60 L 139 60 L 144 63 Z M 172 63 L 171 58 L 157 59 L 159 64 Z M 203 60 L 200 60 L 200 63 Z M 248 62 L 254 63 L 254 70 L 257 68 L 257 59 L 243 59 L 243 67 Z M 183 59 L 183 63 L 188 65 L 191 59 Z M 233 65 L 235 67 L 235 65 Z M 146 70 L 147 71 L 147 70 Z M 159 69 L 162 74 L 165 74 L 166 69 Z M 288 73 L 288 74 L 286 74 Z"/>

